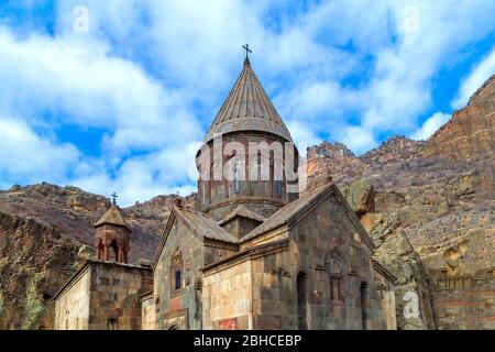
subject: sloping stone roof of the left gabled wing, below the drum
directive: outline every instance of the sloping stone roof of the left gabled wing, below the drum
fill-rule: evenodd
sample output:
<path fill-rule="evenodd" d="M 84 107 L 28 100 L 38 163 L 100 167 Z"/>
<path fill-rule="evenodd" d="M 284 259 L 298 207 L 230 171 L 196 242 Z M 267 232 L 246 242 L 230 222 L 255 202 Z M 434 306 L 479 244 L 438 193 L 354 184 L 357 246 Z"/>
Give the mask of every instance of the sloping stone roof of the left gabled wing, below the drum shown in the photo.
<path fill-rule="evenodd" d="M 178 207 L 174 210 L 201 238 L 237 243 L 238 239 L 233 234 L 221 228 L 213 218 L 206 213 Z"/>

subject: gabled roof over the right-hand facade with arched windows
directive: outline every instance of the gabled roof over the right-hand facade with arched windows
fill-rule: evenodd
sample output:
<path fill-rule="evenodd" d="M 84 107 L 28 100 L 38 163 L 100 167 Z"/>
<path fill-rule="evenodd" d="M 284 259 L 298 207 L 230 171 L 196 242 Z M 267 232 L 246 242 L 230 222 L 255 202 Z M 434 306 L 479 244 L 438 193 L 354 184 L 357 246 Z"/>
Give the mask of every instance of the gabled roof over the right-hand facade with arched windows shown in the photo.
<path fill-rule="evenodd" d="M 276 211 L 273 216 L 271 216 L 265 222 L 253 229 L 251 232 L 246 233 L 242 239 L 239 240 L 239 242 L 242 243 L 249 241 L 283 226 L 293 226 L 297 223 L 297 221 L 302 219 L 308 211 L 318 206 L 331 194 L 336 195 L 336 197 L 339 199 L 340 204 L 343 207 L 343 211 L 345 211 L 351 218 L 351 221 L 354 223 L 358 231 L 360 231 L 370 249 L 374 249 L 373 241 L 370 239 L 366 230 L 363 228 L 354 211 L 351 209 L 348 201 L 342 196 L 334 183 L 320 187 L 312 193 L 309 193 L 308 195 L 289 202 L 288 205 Z"/>

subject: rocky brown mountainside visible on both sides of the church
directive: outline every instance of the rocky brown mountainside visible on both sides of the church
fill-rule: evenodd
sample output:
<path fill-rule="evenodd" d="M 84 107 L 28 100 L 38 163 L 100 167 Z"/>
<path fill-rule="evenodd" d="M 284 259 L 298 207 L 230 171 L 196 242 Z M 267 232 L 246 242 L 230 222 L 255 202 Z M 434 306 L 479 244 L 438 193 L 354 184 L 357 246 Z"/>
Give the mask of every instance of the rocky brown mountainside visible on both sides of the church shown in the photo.
<path fill-rule="evenodd" d="M 492 77 L 428 141 L 396 136 L 361 156 L 338 142 L 308 150 L 307 190 L 332 177 L 369 230 L 375 258 L 397 276 L 400 329 L 493 328 L 494 86 Z M 122 209 L 132 263 L 152 257 L 177 197 Z M 184 201 L 196 208 L 197 195 Z M 92 224 L 109 205 L 69 186 L 0 191 L 0 329 L 52 327 L 50 298 L 91 255 Z M 419 310 L 405 314 L 415 299 Z"/>

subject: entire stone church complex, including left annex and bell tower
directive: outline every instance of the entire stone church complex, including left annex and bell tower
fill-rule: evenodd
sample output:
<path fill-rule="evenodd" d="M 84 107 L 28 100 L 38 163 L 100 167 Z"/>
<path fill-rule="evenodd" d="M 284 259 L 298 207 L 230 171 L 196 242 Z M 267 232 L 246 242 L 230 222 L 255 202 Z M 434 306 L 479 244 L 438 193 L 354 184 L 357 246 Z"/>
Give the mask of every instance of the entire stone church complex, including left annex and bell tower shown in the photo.
<path fill-rule="evenodd" d="M 292 142 L 246 56 L 197 154 L 198 209 L 177 201 L 153 262 L 131 265 L 113 205 L 95 224 L 96 257 L 54 298 L 55 328 L 395 329 L 395 278 L 331 179 L 294 190 Z M 218 143 L 235 148 L 211 158 Z M 268 146 L 266 163 L 261 147 L 229 164 L 252 145 Z"/>

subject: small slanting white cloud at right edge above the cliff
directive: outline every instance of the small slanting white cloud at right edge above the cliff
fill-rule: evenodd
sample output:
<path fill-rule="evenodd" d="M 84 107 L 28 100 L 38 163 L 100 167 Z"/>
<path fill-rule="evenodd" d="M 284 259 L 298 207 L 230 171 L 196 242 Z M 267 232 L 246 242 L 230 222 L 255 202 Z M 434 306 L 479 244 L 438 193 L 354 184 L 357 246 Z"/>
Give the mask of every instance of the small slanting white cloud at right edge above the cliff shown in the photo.
<path fill-rule="evenodd" d="M 461 109 L 468 105 L 471 96 L 495 74 L 495 48 L 485 57 L 461 84 L 459 95 L 452 102 L 452 108 Z"/>

